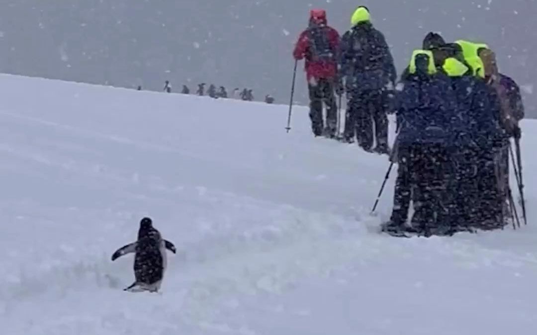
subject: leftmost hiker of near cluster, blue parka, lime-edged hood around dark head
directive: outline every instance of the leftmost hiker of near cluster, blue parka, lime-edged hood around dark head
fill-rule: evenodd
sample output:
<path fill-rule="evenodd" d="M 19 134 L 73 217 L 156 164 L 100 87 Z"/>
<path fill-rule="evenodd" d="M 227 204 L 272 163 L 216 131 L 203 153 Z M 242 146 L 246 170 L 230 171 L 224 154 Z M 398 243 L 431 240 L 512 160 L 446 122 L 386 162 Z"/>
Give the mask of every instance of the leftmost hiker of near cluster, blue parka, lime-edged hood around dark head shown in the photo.
<path fill-rule="evenodd" d="M 455 95 L 449 78 L 437 70 L 430 50 L 414 51 L 402 84 L 396 103 L 397 145 L 399 155 L 407 160 L 404 166 L 409 170 L 415 212 L 411 228 L 387 225 L 383 229 L 425 236 L 452 234 Z"/>

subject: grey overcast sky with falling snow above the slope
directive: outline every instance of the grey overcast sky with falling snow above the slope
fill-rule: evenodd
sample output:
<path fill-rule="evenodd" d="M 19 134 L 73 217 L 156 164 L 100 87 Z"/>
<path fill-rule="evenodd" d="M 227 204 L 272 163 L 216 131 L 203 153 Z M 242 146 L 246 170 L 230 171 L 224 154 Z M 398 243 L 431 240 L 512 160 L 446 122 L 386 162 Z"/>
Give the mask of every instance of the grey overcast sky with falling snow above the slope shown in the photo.
<path fill-rule="evenodd" d="M 523 87 L 537 117 L 537 2 L 533 0 L 2 0 L 0 71 L 162 90 L 204 81 L 289 99 L 297 35 L 312 7 L 340 33 L 365 4 L 400 73 L 429 31 L 484 41 Z M 297 100 L 307 101 L 303 64 Z"/>

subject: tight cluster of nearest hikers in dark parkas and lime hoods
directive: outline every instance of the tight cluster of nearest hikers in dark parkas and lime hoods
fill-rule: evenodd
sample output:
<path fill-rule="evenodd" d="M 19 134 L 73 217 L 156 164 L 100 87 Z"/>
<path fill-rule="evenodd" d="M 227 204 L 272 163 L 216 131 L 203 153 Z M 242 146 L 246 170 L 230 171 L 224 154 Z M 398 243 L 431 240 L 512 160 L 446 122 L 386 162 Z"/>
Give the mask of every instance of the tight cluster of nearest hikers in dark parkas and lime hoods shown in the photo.
<path fill-rule="evenodd" d="M 503 228 L 515 206 L 509 153 L 511 138 L 518 145 L 521 137 L 524 107 L 517 84 L 499 73 L 494 52 L 487 44 L 446 43 L 429 33 L 398 85 L 398 176 L 384 230 L 451 235 Z"/>

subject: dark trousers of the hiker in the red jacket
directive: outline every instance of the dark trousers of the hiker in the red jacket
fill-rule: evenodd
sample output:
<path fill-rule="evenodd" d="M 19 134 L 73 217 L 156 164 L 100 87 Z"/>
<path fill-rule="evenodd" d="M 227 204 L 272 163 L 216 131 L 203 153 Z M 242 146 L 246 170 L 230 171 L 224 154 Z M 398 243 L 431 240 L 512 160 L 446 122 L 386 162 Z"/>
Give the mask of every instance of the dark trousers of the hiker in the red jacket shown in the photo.
<path fill-rule="evenodd" d="M 323 102 L 326 106 L 326 135 L 335 136 L 337 128 L 337 106 L 334 83 L 331 79 L 318 79 L 315 85 L 309 83 L 309 117 L 311 130 L 315 136 L 323 135 Z"/>

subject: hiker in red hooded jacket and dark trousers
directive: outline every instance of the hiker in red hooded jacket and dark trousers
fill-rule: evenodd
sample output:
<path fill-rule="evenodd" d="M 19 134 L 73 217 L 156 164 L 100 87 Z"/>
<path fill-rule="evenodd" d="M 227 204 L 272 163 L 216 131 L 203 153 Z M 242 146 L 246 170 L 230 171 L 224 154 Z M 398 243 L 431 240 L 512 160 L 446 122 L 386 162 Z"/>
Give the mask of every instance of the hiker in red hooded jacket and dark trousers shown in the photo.
<path fill-rule="evenodd" d="M 342 94 L 337 71 L 339 34 L 328 26 L 326 11 L 310 11 L 309 26 L 296 42 L 293 57 L 306 59 L 305 70 L 310 99 L 311 128 L 315 136 L 335 137 L 337 106 L 334 89 Z M 323 102 L 326 105 L 326 128 L 323 129 Z"/>

